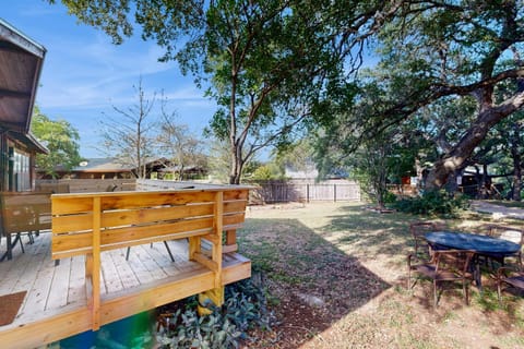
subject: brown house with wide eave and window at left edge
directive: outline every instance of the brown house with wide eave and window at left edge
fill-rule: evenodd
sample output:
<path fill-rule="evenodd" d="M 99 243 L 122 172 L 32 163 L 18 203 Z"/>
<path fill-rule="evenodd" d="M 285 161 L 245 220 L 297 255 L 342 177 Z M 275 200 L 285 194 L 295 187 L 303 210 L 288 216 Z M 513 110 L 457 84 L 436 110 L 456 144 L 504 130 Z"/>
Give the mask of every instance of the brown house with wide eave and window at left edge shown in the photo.
<path fill-rule="evenodd" d="M 31 134 L 46 49 L 0 19 L 0 191 L 29 191 L 36 154 L 47 148 Z"/>

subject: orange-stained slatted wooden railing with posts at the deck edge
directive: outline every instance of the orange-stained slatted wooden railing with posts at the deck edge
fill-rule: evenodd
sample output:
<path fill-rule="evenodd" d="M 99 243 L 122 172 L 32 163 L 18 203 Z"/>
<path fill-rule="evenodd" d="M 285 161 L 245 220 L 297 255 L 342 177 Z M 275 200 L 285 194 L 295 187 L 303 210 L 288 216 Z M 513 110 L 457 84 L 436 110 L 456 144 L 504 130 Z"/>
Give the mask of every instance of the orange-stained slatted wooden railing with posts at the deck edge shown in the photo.
<path fill-rule="evenodd" d="M 100 311 L 100 253 L 156 241 L 187 238 L 189 260 L 212 272 L 222 288 L 222 254 L 236 250 L 235 232 L 245 220 L 247 188 L 164 192 L 55 194 L 52 258 L 86 255 L 86 294 L 93 329 Z M 223 248 L 223 231 L 226 246 Z M 203 249 L 202 242 L 211 250 Z M 126 306 L 111 300 L 112 309 Z"/>

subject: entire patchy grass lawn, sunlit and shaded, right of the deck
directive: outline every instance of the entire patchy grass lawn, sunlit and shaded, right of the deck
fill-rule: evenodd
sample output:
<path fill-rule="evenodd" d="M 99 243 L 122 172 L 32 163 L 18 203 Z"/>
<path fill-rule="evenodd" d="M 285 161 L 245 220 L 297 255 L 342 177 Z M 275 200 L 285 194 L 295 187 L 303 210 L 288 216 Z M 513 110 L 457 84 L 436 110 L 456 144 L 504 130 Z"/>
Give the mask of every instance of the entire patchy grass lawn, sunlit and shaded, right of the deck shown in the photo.
<path fill-rule="evenodd" d="M 497 301 L 492 278 L 484 294 L 442 293 L 432 305 L 430 281 L 406 290 L 408 224 L 362 204 L 315 203 L 252 207 L 238 232 L 279 323 L 257 332 L 248 348 L 524 348 L 524 298 Z M 446 220 L 474 231 L 488 215 Z M 509 221 L 520 225 L 521 221 Z"/>

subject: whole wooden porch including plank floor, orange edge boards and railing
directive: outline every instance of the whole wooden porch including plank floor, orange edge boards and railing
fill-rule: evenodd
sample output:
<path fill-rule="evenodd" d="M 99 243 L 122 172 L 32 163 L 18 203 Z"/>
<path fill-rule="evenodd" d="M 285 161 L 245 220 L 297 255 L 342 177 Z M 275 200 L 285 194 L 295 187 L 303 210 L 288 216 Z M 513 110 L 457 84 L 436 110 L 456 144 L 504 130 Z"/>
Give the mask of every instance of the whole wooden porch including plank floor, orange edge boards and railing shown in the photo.
<path fill-rule="evenodd" d="M 38 212 L 32 195 L 4 193 L 2 217 L 13 218 L 3 219 L 4 236 L 34 228 L 20 214 Z M 236 253 L 247 188 L 50 198 L 51 231 L 31 244 L 22 234 L 25 253 L 16 245 L 0 263 L 0 296 L 26 292 L 14 321 L 0 326 L 2 346 L 38 347 L 203 292 L 222 304 L 223 286 L 251 275 Z"/>

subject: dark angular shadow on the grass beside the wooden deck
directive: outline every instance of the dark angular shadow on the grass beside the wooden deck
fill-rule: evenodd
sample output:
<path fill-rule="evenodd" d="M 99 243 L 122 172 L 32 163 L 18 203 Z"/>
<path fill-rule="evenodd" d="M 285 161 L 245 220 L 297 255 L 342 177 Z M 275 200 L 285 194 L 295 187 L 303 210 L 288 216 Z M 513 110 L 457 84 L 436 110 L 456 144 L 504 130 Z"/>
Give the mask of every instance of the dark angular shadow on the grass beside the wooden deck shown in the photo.
<path fill-rule="evenodd" d="M 297 219 L 250 218 L 238 239 L 274 297 L 286 337 L 278 348 L 298 347 L 391 287 Z"/>

